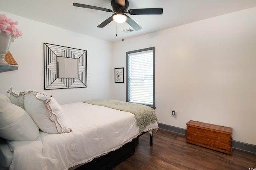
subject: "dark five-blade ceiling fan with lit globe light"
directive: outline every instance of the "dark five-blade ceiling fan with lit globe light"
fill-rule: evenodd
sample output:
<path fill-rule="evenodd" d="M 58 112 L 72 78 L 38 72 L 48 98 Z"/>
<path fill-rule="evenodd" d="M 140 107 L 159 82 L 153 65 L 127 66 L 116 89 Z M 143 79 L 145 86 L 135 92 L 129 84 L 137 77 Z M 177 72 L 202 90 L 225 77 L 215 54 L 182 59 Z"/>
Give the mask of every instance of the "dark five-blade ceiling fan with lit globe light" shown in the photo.
<path fill-rule="evenodd" d="M 94 10 L 101 10 L 106 12 L 113 12 L 114 14 L 103 21 L 100 25 L 97 27 L 103 28 L 111 21 L 116 21 L 117 23 L 128 23 L 133 29 L 136 31 L 140 30 L 141 27 L 138 25 L 132 18 L 127 16 L 126 14 L 130 15 L 161 15 L 163 14 L 163 8 L 141 8 L 141 9 L 132 9 L 128 10 L 129 2 L 128 0 L 111 0 L 111 6 L 113 8 L 113 11 L 107 8 L 101 8 L 97 6 L 91 6 L 91 5 L 85 5 L 85 4 L 78 4 L 73 3 L 73 6 L 82 7 L 82 8 L 90 8 Z M 127 12 L 128 10 L 128 12 Z"/>

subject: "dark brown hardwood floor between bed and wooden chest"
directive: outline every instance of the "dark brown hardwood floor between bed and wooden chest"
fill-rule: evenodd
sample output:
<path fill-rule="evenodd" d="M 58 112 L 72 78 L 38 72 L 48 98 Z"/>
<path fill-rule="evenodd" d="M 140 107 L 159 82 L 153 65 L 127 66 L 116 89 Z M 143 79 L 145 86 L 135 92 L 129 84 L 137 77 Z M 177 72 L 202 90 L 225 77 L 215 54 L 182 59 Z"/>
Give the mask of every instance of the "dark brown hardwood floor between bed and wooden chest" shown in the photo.
<path fill-rule="evenodd" d="M 233 149 L 232 155 L 186 143 L 186 136 L 158 129 L 139 138 L 135 153 L 113 170 L 248 170 L 256 154 Z"/>

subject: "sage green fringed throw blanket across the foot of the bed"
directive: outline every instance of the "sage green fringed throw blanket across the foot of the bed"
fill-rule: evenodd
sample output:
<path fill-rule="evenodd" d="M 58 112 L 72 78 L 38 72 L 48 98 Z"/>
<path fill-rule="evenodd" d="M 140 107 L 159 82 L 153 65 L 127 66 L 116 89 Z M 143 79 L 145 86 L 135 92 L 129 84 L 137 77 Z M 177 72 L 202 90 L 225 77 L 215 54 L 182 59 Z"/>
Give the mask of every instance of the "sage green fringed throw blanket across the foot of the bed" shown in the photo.
<path fill-rule="evenodd" d="M 142 132 L 147 125 L 150 125 L 151 122 L 154 123 L 157 121 L 157 117 L 154 109 L 142 104 L 134 104 L 134 103 L 122 102 L 119 100 L 104 100 L 104 99 L 87 100 L 83 102 L 133 113 L 136 116 L 137 125 L 140 128 L 140 132 Z"/>

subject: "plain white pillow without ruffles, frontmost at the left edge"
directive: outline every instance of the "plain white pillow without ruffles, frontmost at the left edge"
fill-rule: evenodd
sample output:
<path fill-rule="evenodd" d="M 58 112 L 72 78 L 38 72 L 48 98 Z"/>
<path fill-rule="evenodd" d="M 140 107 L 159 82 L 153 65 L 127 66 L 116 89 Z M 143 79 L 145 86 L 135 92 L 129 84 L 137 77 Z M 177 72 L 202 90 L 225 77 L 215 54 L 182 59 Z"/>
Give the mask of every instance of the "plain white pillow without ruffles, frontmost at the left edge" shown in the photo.
<path fill-rule="evenodd" d="M 0 137 L 34 141 L 39 137 L 39 129 L 24 109 L 10 102 L 0 102 Z"/>

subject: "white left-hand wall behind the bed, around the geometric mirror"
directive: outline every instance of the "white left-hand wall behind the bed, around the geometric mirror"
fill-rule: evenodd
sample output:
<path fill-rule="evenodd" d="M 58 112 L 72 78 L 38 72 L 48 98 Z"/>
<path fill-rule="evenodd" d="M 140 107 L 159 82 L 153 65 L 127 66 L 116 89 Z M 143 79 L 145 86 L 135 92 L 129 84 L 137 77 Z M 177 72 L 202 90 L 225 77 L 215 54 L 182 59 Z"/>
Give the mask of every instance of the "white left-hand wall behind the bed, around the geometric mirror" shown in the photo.
<path fill-rule="evenodd" d="M 11 43 L 9 51 L 18 63 L 18 70 L 0 73 L 0 93 L 14 90 L 35 90 L 52 95 L 60 104 L 92 98 L 109 98 L 112 76 L 112 43 L 66 29 L 54 27 L 0 11 L 18 21 L 22 37 Z M 43 43 L 87 50 L 88 88 L 44 90 Z"/>

